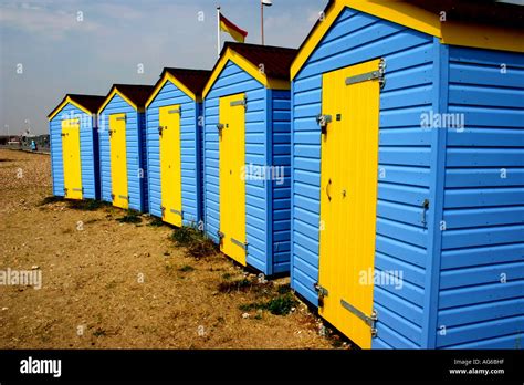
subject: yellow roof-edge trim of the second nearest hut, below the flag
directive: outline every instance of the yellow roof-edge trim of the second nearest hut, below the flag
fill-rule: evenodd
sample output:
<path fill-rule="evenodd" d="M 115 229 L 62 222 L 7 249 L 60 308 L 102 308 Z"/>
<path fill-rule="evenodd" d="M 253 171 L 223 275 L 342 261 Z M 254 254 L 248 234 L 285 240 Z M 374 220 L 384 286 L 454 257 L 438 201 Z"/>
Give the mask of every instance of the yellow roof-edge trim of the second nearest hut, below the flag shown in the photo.
<path fill-rule="evenodd" d="M 226 64 L 228 64 L 228 61 L 231 61 L 238 66 L 240 66 L 242 70 L 248 72 L 251 76 L 253 76 L 255 80 L 262 83 L 266 89 L 272 89 L 272 90 L 290 90 L 291 89 L 290 81 L 268 77 L 265 74 L 260 72 L 258 65 L 255 65 L 254 63 L 251 63 L 244 56 L 242 56 L 238 52 L 234 52 L 233 50 L 228 48 L 226 50 L 226 53 L 220 58 L 213 72 L 211 73 L 211 76 L 209 77 L 208 83 L 206 83 L 206 87 L 203 89 L 203 92 L 202 92 L 202 98 L 205 98 L 208 95 L 209 91 L 211 91 L 211 87 L 213 86 L 217 79 L 220 76 L 220 73 L 224 69 Z"/>

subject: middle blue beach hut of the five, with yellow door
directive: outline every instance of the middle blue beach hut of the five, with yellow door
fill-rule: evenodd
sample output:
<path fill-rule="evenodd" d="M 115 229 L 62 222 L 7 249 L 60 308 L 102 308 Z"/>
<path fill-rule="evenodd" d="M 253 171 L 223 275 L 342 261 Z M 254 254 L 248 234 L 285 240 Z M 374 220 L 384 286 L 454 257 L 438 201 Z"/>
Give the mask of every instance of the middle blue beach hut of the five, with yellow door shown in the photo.
<path fill-rule="evenodd" d="M 202 220 L 202 90 L 210 74 L 166 67 L 146 103 L 149 212 L 175 226 Z"/>

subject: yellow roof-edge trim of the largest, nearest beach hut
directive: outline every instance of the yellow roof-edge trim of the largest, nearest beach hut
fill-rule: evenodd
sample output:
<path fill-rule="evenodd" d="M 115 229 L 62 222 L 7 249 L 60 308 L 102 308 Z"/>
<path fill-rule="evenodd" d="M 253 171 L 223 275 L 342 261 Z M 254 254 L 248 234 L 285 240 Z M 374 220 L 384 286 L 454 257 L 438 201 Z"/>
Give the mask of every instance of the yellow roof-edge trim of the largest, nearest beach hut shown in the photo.
<path fill-rule="evenodd" d="M 521 31 L 449 21 L 441 23 L 438 14 L 404 1 L 335 0 L 291 65 L 292 80 L 346 7 L 437 37 L 443 44 L 524 52 Z"/>

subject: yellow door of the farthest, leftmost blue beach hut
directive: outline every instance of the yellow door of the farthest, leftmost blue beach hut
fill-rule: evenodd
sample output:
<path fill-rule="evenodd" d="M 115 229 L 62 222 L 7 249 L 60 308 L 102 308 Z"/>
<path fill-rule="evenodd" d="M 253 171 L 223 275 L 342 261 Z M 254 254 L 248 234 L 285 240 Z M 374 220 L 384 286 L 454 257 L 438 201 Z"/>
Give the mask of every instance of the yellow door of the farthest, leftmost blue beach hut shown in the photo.
<path fill-rule="evenodd" d="M 82 199 L 82 164 L 80 158 L 80 119 L 62 121 L 62 159 L 64 197 Z"/>

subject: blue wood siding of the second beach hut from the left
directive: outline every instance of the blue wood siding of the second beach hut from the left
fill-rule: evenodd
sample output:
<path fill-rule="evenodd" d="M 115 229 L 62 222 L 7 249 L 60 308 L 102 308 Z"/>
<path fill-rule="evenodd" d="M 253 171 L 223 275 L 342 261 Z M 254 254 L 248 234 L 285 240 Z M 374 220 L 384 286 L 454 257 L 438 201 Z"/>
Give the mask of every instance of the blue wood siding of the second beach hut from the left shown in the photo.
<path fill-rule="evenodd" d="M 118 94 L 113 96 L 99 115 L 102 199 L 112 202 L 109 115 L 126 114 L 127 184 L 129 209 L 147 212 L 147 157 L 144 113 L 137 112 Z"/>

